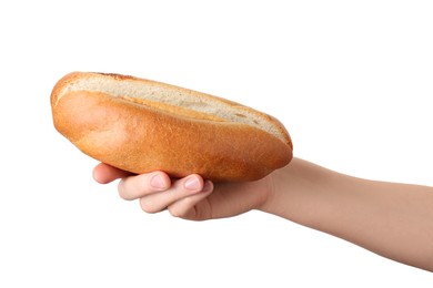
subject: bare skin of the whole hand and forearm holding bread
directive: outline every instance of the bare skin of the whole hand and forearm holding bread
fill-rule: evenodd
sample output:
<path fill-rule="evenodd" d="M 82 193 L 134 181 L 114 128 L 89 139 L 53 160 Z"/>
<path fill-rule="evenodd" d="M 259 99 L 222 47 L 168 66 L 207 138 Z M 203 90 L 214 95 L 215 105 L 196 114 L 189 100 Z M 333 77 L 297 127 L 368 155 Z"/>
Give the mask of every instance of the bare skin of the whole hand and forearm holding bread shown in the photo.
<path fill-rule="evenodd" d="M 115 179 L 122 198 L 139 199 L 147 213 L 205 220 L 251 209 L 274 214 L 349 240 L 390 259 L 433 271 L 433 188 L 340 174 L 300 158 L 249 183 L 218 183 L 192 174 L 131 175 L 107 164 L 98 183 Z"/>

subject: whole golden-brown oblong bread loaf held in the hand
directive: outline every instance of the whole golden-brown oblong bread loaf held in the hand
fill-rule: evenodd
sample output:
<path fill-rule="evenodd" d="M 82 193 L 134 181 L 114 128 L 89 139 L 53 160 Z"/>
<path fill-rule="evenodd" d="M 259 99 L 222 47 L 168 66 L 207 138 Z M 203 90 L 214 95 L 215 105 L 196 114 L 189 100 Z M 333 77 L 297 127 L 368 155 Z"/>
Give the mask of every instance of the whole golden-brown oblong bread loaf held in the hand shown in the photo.
<path fill-rule="evenodd" d="M 56 128 L 78 148 L 132 173 L 255 181 L 292 160 L 276 119 L 150 80 L 70 73 L 53 88 L 51 107 Z"/>

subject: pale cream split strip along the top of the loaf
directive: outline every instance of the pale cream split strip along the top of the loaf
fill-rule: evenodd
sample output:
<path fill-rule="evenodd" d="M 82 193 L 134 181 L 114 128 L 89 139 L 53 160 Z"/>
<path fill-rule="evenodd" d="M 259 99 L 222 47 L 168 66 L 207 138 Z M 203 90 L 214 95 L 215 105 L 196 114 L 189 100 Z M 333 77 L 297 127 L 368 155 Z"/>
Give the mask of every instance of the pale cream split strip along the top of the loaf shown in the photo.
<path fill-rule="evenodd" d="M 205 119 L 208 121 L 246 124 L 263 130 L 284 143 L 289 142 L 284 128 L 279 126 L 276 121 L 269 115 L 231 101 L 188 89 L 147 80 L 115 79 L 115 76 L 95 74 L 95 76 L 75 79 L 70 82 L 58 95 L 58 101 L 66 93 L 74 91 L 93 91 L 114 97 L 137 99 L 134 102 L 139 104 L 145 104 L 150 101 L 162 103 L 163 106 L 180 106 L 181 110 L 178 114 L 182 116 L 188 115 L 185 110 L 191 110 L 200 114 L 209 114 L 210 116 Z M 167 109 L 163 110 L 168 112 Z M 177 114 L 175 110 L 169 112 Z M 197 119 L 198 113 L 191 113 L 191 117 Z"/>

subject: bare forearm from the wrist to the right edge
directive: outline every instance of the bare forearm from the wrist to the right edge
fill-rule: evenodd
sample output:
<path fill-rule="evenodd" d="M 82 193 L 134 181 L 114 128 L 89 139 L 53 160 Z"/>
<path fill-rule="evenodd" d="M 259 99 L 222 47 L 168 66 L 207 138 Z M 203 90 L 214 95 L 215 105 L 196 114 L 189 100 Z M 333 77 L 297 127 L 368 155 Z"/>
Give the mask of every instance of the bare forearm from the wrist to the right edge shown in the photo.
<path fill-rule="evenodd" d="M 433 270 L 433 188 L 360 179 L 298 158 L 272 177 L 265 212 Z"/>

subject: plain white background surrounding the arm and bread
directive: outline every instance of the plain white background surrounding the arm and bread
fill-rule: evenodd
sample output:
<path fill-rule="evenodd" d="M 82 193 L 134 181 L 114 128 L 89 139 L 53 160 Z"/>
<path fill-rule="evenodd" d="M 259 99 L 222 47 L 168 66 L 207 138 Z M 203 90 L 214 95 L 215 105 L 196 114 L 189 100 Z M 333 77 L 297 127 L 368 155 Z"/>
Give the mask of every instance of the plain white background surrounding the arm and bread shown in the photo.
<path fill-rule="evenodd" d="M 0 287 L 432 287 L 432 274 L 251 212 L 148 215 L 56 132 L 71 71 L 131 74 L 262 110 L 294 154 L 433 185 L 431 1 L 2 1 Z"/>

